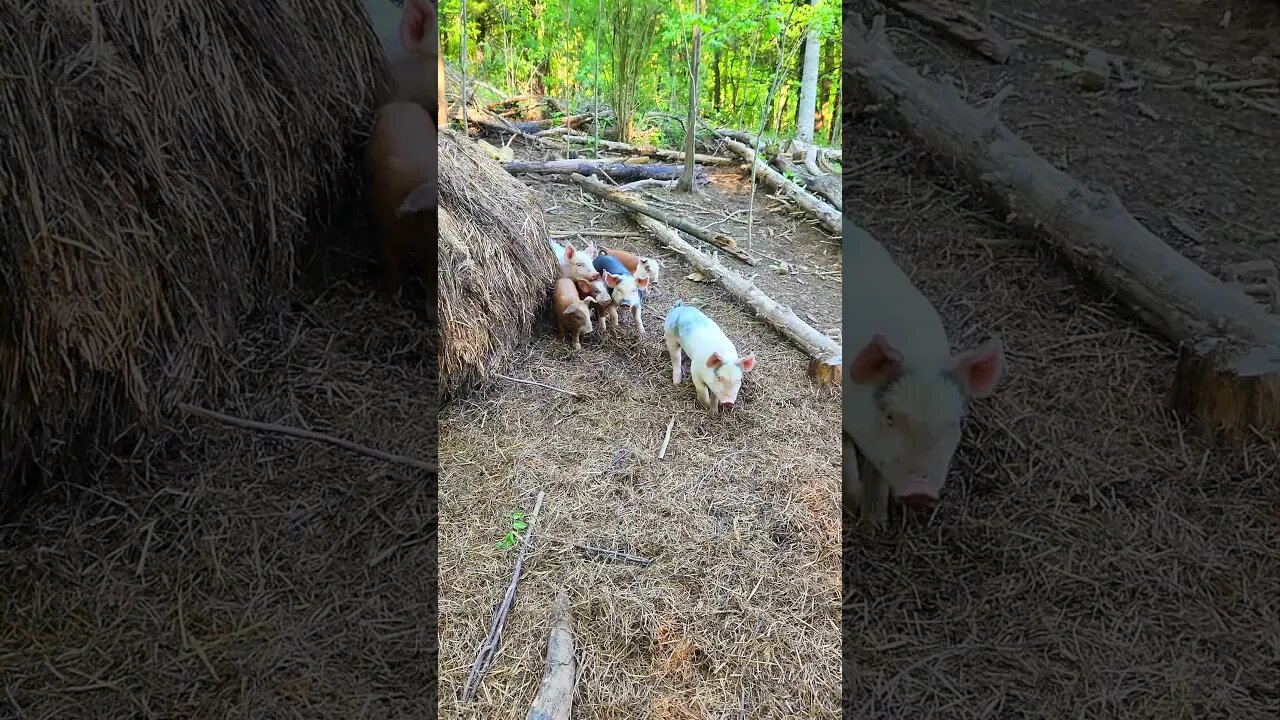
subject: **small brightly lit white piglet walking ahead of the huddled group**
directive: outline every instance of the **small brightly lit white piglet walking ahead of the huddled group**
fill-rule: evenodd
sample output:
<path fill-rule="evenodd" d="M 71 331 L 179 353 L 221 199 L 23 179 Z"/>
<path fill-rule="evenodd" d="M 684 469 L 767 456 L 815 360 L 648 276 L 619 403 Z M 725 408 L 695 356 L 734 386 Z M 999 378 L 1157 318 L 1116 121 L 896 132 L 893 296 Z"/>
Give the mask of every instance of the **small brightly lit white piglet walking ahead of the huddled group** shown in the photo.
<path fill-rule="evenodd" d="M 713 416 L 737 402 L 742 375 L 755 366 L 755 355 L 737 356 L 737 348 L 701 310 L 677 300 L 663 327 L 671 354 L 671 384 L 680 384 L 681 351 L 689 354 L 689 374 L 698 402 Z"/>

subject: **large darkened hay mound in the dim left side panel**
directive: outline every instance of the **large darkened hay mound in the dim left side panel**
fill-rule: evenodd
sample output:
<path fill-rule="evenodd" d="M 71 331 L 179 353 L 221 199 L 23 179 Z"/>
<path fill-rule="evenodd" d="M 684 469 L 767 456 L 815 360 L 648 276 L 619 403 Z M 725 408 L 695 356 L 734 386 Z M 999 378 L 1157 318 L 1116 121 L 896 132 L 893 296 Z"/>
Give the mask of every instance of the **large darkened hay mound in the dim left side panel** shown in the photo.
<path fill-rule="evenodd" d="M 234 382 L 343 193 L 384 58 L 360 0 L 0 3 L 0 514 Z"/>

